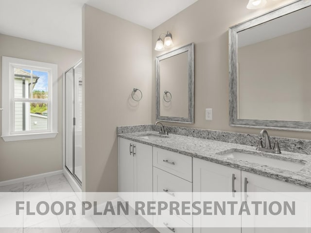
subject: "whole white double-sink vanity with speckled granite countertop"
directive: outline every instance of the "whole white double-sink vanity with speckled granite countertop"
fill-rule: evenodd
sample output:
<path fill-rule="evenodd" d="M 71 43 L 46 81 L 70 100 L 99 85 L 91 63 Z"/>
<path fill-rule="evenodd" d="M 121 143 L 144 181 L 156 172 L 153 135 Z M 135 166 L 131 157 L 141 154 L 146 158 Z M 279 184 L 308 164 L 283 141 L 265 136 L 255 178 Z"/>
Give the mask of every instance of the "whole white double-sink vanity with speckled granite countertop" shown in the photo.
<path fill-rule="evenodd" d="M 121 192 L 241 192 L 252 201 L 258 192 L 311 192 L 311 156 L 155 131 L 119 132 L 119 179 Z M 200 224 L 176 218 L 189 224 L 174 228 L 176 233 L 190 233 L 192 224 Z M 170 222 L 159 221 L 166 224 L 161 232 L 172 233 Z"/>

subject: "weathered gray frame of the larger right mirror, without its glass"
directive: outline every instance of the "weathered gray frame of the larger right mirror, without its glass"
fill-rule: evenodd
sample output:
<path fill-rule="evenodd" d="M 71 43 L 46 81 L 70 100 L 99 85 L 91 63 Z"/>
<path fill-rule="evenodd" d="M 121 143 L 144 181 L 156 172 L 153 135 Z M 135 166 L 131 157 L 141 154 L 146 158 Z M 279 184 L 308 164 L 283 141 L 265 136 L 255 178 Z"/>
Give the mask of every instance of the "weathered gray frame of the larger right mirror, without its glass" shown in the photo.
<path fill-rule="evenodd" d="M 277 8 L 239 23 L 229 28 L 229 124 L 236 127 L 266 128 L 291 131 L 311 131 L 310 121 L 285 121 L 285 120 L 253 120 L 238 119 L 238 33 L 268 22 L 278 17 L 311 6 L 311 0 L 298 0 L 288 5 Z"/>

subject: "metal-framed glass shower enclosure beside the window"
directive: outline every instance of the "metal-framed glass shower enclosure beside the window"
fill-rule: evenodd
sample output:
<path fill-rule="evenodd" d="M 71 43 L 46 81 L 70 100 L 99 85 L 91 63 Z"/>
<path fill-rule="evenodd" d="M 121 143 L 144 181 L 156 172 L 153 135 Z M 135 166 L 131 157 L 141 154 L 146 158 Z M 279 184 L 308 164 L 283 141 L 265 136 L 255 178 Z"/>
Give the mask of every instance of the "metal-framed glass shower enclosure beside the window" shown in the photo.
<path fill-rule="evenodd" d="M 82 59 L 64 74 L 65 167 L 82 184 Z"/>

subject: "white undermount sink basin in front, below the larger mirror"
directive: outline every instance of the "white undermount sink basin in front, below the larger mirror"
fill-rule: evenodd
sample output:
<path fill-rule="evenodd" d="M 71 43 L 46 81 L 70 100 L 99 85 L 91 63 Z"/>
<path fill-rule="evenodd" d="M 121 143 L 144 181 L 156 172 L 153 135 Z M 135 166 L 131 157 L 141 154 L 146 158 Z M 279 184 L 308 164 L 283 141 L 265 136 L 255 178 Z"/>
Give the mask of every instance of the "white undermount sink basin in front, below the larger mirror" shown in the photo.
<path fill-rule="evenodd" d="M 299 171 L 304 166 L 303 163 L 300 163 L 298 161 L 292 162 L 292 161 L 286 161 L 286 160 L 280 160 L 280 159 L 267 158 L 264 156 L 254 155 L 254 154 L 240 152 L 240 151 L 226 152 L 226 153 L 223 153 L 222 156 L 225 156 L 227 158 L 247 161 L 249 163 L 256 163 L 256 164 L 276 167 L 280 169 L 285 169 L 289 171 Z"/>

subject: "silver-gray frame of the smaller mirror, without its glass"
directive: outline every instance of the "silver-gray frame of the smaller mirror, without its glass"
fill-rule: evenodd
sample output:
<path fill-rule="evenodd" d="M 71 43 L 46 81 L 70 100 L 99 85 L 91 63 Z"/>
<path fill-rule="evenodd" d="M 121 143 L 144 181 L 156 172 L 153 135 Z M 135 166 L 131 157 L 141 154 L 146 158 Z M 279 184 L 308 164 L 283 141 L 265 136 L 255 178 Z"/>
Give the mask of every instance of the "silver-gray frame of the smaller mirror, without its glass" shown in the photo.
<path fill-rule="evenodd" d="M 160 61 L 173 57 L 183 52 L 188 52 L 188 117 L 179 116 L 160 116 Z M 194 43 L 190 43 L 177 50 L 170 51 L 161 56 L 156 57 L 155 60 L 155 78 L 156 78 L 156 120 L 171 121 L 179 123 L 194 123 Z"/>

